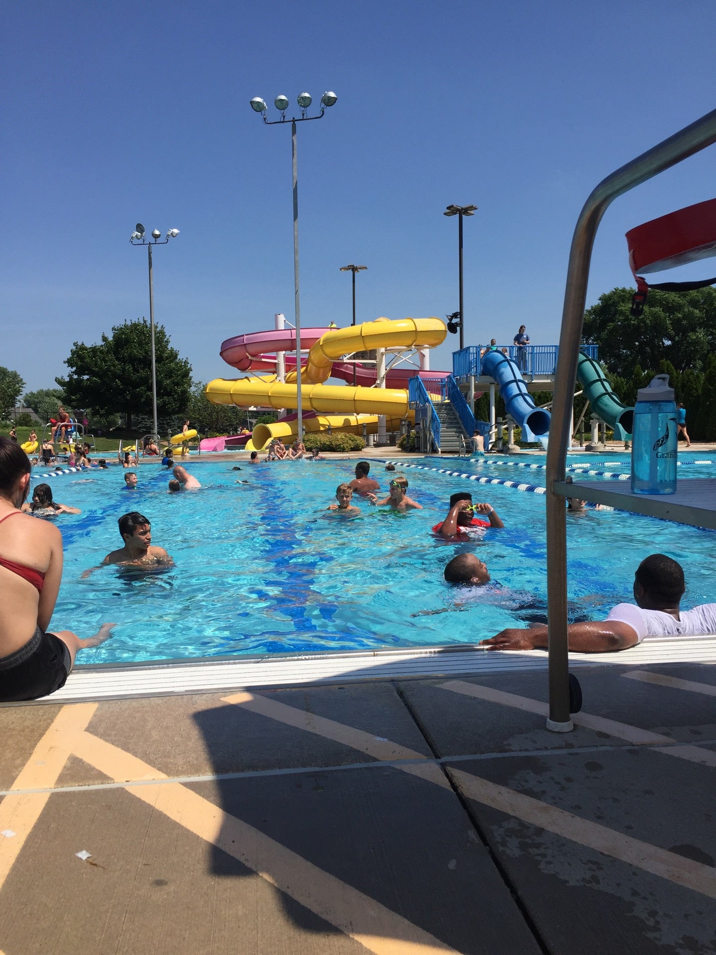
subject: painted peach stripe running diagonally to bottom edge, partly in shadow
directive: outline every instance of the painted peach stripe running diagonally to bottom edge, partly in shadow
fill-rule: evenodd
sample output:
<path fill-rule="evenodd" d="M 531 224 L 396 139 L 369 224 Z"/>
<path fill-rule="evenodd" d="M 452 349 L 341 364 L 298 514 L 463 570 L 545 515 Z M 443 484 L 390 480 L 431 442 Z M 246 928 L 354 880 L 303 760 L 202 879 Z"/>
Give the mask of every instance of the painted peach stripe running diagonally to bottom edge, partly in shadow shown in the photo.
<path fill-rule="evenodd" d="M 141 776 L 167 778 L 137 756 L 125 753 L 89 732 L 80 733 L 74 754 L 116 782 Z M 284 895 L 304 905 L 375 955 L 436 955 L 455 951 L 385 905 L 303 859 L 242 819 L 224 813 L 220 806 L 180 783 L 128 786 L 126 792 L 238 859 Z"/>

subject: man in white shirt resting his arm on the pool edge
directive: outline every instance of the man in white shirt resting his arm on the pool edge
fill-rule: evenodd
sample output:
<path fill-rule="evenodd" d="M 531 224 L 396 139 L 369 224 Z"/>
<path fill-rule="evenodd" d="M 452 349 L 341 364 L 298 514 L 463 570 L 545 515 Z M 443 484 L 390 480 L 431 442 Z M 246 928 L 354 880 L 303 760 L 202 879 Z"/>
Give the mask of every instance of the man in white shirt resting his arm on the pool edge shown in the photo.
<path fill-rule="evenodd" d="M 681 610 L 684 568 L 664 554 L 652 554 L 637 567 L 633 604 L 618 604 L 606 620 L 570 624 L 569 648 L 579 653 L 604 653 L 634 647 L 649 637 L 716 634 L 716 604 Z M 494 650 L 547 648 L 547 627 L 501 630 L 483 644 Z"/>

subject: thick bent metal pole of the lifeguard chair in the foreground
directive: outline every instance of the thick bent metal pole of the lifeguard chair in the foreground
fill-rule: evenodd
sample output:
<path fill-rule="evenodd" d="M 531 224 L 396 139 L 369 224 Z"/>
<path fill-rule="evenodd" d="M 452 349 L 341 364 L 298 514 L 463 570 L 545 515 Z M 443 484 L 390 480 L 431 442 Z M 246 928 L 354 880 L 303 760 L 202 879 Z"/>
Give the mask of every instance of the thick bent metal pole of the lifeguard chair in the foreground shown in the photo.
<path fill-rule="evenodd" d="M 664 139 L 653 149 L 621 166 L 593 190 L 579 213 L 572 238 L 559 333 L 559 352 L 547 449 L 547 614 L 549 643 L 550 715 L 547 728 L 567 732 L 569 714 L 569 657 L 567 630 L 567 521 L 564 499 L 554 493 L 564 479 L 570 438 L 572 400 L 577 379 L 579 343 L 584 319 L 589 266 L 601 217 L 609 204 L 635 186 L 693 156 L 716 142 L 716 110 Z"/>

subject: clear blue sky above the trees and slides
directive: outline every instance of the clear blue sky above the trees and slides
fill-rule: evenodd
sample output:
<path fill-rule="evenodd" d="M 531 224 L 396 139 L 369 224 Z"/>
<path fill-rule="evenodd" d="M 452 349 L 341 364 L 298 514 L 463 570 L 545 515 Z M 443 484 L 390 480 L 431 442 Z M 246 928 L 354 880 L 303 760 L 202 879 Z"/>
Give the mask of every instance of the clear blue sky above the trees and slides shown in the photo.
<path fill-rule="evenodd" d="M 466 342 L 558 340 L 579 209 L 623 162 L 714 107 L 710 0 L 125 0 L 6 6 L 0 41 L 0 365 L 52 387 L 74 340 L 148 314 L 135 223 L 180 229 L 155 310 L 206 381 L 224 338 L 292 317 L 289 127 L 248 105 L 326 89 L 299 127 L 302 320 L 457 308 Z M 713 196 L 714 149 L 615 202 L 588 304 L 628 285 L 624 232 Z M 705 277 L 708 264 L 682 275 Z M 709 273 L 710 274 L 710 273 Z M 669 274 L 676 278 L 677 273 Z M 449 336 L 432 367 L 451 369 Z"/>

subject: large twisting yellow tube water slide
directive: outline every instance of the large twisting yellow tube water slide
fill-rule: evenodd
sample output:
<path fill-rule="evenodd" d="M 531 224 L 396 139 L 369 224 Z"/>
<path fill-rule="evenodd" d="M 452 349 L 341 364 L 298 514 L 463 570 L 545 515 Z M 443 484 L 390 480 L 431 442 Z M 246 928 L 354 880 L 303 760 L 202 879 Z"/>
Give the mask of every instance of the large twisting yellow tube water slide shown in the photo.
<path fill-rule="evenodd" d="M 386 415 L 386 428 L 389 431 L 396 430 L 400 420 L 409 414 L 407 390 L 316 382 L 326 381 L 332 363 L 353 351 L 434 348 L 445 340 L 446 333 L 445 323 L 439 318 L 404 318 L 396 321 L 380 318 L 347 329 L 326 331 L 308 352 L 308 360 L 302 370 L 302 405 L 319 414 L 316 418 L 305 419 L 305 430 L 324 431 L 330 427 L 331 430 L 360 435 L 363 434 L 365 423 L 370 434 L 377 431 L 378 415 Z M 293 383 L 277 381 L 275 375 L 255 375 L 233 381 L 215 378 L 206 386 L 206 396 L 215 405 L 259 405 L 293 410 L 298 407 L 295 372 L 290 377 L 293 377 Z M 311 384 L 303 384 L 305 380 Z M 272 425 L 257 426 L 255 437 L 250 443 L 260 449 L 272 437 L 295 434 L 295 422 L 277 421 Z"/>

